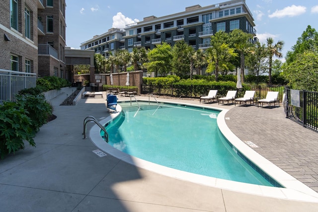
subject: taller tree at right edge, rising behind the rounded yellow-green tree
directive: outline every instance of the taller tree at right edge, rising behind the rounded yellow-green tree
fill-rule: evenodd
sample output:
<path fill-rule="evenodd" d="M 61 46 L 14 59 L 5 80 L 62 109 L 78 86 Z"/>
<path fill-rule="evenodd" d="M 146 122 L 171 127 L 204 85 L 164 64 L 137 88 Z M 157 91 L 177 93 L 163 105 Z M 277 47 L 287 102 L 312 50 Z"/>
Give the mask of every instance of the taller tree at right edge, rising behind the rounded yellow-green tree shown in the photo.
<path fill-rule="evenodd" d="M 318 32 L 310 25 L 307 26 L 302 36 L 297 39 L 296 44 L 292 47 L 292 51 L 287 52 L 286 63 L 292 63 L 297 59 L 297 54 L 303 53 L 306 50 L 318 51 Z"/>

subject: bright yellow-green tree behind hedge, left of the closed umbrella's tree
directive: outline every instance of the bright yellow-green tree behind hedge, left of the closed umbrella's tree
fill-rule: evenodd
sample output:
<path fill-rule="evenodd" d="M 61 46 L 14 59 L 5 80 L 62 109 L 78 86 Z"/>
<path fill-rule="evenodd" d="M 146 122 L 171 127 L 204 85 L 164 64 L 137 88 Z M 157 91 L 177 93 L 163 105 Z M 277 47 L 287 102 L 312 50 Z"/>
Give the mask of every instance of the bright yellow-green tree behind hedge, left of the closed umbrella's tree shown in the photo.
<path fill-rule="evenodd" d="M 233 69 L 230 63 L 233 57 L 237 57 L 233 48 L 229 47 L 229 34 L 223 31 L 211 36 L 211 47 L 206 50 L 208 69 L 207 72 L 215 71 L 215 79 L 218 81 L 219 71 Z"/>

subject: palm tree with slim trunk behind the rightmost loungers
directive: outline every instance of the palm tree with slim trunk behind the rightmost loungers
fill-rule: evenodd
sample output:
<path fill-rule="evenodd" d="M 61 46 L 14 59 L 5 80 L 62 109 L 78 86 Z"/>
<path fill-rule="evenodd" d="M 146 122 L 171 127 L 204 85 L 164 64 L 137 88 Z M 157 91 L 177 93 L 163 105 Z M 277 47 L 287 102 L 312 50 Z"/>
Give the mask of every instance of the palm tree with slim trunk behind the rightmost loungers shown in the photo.
<path fill-rule="evenodd" d="M 272 84 L 272 61 L 273 56 L 278 58 L 283 57 L 283 54 L 280 52 L 283 49 L 284 41 L 278 41 L 275 45 L 273 45 L 274 40 L 273 38 L 267 38 L 267 53 L 268 53 L 268 83 Z"/>

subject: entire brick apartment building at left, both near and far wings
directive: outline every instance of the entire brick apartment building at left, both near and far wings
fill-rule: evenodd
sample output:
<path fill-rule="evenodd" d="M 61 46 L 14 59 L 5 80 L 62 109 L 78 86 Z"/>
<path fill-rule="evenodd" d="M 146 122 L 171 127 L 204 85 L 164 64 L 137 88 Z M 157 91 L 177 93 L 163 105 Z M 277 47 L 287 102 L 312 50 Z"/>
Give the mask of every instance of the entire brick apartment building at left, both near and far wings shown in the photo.
<path fill-rule="evenodd" d="M 0 69 L 65 78 L 65 0 L 0 1 Z"/>

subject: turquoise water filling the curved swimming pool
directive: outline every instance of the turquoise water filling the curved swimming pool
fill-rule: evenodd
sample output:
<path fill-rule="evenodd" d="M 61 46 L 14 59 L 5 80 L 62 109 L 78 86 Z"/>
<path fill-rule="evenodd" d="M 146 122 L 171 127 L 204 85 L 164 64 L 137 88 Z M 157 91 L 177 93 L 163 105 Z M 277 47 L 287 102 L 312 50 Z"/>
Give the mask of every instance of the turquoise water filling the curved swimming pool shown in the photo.
<path fill-rule="evenodd" d="M 219 111 L 148 102 L 140 102 L 140 110 L 136 103 L 120 105 L 122 114 L 106 126 L 115 148 L 186 172 L 272 186 L 225 141 L 217 126 Z"/>

